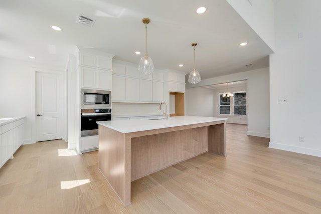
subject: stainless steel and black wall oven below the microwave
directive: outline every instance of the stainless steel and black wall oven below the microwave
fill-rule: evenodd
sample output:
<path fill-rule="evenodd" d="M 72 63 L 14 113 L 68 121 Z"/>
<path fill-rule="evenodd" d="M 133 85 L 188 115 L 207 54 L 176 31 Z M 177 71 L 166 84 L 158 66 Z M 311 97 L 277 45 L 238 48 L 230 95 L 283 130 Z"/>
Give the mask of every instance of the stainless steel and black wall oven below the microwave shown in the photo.
<path fill-rule="evenodd" d="M 98 135 L 97 121 L 111 120 L 111 108 L 81 109 L 81 136 Z"/>

